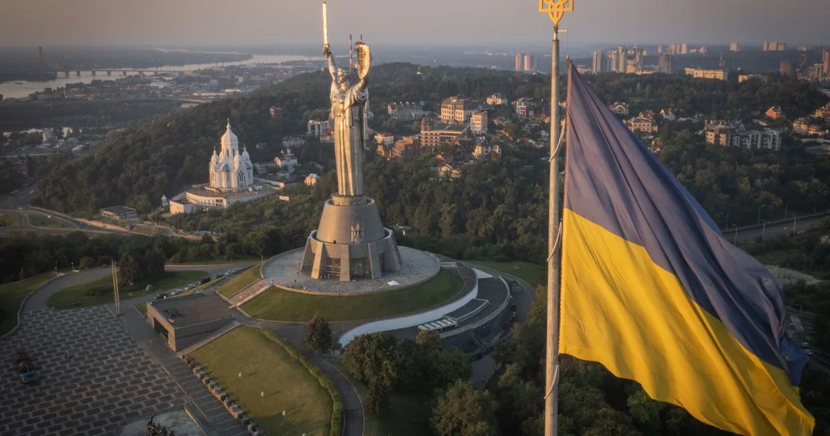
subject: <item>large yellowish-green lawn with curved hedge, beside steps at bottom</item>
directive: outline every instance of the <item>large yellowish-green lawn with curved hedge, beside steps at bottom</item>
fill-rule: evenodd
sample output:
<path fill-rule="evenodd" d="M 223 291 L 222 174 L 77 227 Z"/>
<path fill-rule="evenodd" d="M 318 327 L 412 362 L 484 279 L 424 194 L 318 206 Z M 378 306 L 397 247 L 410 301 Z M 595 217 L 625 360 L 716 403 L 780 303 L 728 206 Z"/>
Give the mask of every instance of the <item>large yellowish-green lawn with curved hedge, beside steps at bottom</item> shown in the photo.
<path fill-rule="evenodd" d="M 255 327 L 237 327 L 191 355 L 265 434 L 329 434 L 329 393 Z"/>

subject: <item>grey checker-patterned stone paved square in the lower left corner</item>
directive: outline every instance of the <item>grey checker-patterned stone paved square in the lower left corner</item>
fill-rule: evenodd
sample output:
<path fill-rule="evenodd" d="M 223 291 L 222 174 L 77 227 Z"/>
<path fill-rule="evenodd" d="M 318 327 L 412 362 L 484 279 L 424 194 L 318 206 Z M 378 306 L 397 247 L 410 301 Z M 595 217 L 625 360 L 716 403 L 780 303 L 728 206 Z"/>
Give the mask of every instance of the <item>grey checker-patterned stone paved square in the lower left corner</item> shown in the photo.
<path fill-rule="evenodd" d="M 187 401 L 104 306 L 41 309 L 21 321 L 0 340 L 0 435 L 112 434 L 125 420 Z M 22 384 L 16 350 L 32 359 L 36 384 Z"/>

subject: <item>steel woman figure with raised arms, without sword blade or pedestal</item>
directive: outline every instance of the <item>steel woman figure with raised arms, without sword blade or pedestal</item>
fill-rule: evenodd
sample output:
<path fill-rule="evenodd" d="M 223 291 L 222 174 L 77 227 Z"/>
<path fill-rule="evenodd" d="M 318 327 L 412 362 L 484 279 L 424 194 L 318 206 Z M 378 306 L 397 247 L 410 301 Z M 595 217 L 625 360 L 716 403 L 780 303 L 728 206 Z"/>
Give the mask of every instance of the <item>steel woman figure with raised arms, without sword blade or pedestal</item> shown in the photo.
<path fill-rule="evenodd" d="M 349 71 L 337 68 L 329 44 L 323 44 L 323 55 L 329 61 L 331 74 L 331 119 L 334 122 L 334 162 L 337 167 L 337 194 L 364 194 L 363 151 L 366 144 L 369 91 L 369 46 L 355 44 L 358 53 L 359 81 L 350 86 Z M 364 61 L 361 61 L 361 59 Z"/>

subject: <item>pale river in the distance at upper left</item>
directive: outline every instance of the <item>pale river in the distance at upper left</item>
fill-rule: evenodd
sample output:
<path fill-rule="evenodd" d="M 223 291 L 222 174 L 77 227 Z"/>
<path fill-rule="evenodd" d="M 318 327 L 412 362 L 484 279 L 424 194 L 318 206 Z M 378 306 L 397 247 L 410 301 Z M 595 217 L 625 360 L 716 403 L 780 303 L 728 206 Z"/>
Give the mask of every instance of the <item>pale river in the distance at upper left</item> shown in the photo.
<path fill-rule="evenodd" d="M 320 57 L 300 56 L 300 55 L 253 55 L 247 61 L 224 62 L 220 65 L 255 65 L 255 64 L 273 64 L 288 61 L 320 61 Z M 174 71 L 193 71 L 201 70 L 203 68 L 210 68 L 216 66 L 214 63 L 207 64 L 187 64 L 179 66 L 159 66 L 159 70 L 174 70 Z M 148 68 L 149 70 L 149 68 Z M 76 76 L 75 71 L 69 72 L 69 77 L 64 77 L 63 71 L 58 72 L 58 77 L 54 81 L 5 81 L 0 83 L 0 95 L 3 99 L 9 98 L 24 98 L 35 91 L 43 91 L 45 88 L 56 89 L 65 86 L 67 83 L 90 83 L 95 79 L 100 80 L 115 80 L 124 77 L 121 71 L 114 69 L 112 76 L 107 76 L 106 71 L 98 71 L 97 76 L 92 76 L 91 71 L 81 71 L 81 76 Z"/>

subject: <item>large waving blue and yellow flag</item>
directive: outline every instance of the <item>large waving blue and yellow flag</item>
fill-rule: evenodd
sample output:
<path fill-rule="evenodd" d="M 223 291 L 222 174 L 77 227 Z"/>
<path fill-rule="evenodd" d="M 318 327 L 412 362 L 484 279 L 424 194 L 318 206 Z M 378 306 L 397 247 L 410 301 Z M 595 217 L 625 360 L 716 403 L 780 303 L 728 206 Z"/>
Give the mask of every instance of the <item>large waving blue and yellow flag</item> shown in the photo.
<path fill-rule="evenodd" d="M 811 434 L 774 277 L 569 66 L 559 351 L 737 434 Z"/>

